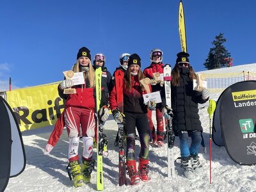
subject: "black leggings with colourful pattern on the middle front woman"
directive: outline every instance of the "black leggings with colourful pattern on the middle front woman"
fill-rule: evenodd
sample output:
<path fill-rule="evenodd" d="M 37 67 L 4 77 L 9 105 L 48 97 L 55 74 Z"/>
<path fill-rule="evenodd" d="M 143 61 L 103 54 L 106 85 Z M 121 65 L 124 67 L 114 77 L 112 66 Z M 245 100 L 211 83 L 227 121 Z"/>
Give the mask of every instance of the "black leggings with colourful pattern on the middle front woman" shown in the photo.
<path fill-rule="evenodd" d="M 140 136 L 140 157 L 148 159 L 149 151 L 149 126 L 146 113 L 125 113 L 125 134 L 126 134 L 126 157 L 127 160 L 134 160 L 136 127 Z"/>

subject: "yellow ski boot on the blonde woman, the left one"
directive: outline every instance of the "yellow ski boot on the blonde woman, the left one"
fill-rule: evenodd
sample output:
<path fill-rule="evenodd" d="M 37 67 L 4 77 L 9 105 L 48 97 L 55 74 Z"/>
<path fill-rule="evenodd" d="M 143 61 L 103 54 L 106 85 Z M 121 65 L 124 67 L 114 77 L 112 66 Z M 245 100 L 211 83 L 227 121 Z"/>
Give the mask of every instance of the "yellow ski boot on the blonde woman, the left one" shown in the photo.
<path fill-rule="evenodd" d="M 74 187 L 81 187 L 83 183 L 83 175 L 81 174 L 78 161 L 69 162 L 67 166 L 67 172 L 69 179 L 74 181 Z"/>

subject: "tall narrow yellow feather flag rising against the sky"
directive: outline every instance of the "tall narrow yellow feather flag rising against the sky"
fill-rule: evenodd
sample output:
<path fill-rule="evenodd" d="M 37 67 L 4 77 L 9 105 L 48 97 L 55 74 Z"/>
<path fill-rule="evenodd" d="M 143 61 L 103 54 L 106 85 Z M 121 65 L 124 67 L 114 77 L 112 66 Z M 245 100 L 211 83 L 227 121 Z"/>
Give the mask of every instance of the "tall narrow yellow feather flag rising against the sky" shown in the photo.
<path fill-rule="evenodd" d="M 180 1 L 179 5 L 179 34 L 181 49 L 182 51 L 187 52 L 185 17 L 182 1 Z"/>

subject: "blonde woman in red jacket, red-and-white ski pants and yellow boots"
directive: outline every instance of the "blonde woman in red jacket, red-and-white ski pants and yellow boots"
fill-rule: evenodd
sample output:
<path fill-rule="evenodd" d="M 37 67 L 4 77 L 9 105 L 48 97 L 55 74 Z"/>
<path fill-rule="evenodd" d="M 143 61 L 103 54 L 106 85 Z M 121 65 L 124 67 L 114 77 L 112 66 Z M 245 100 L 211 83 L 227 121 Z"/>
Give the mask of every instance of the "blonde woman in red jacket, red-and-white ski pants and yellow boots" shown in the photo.
<path fill-rule="evenodd" d="M 74 186 L 90 182 L 93 167 L 93 138 L 95 136 L 95 70 L 91 63 L 90 50 L 81 47 L 77 53 L 77 62 L 72 71 L 83 72 L 84 84 L 74 85 L 71 79 L 64 79 L 58 86 L 58 92 L 65 99 L 64 120 L 67 127 L 68 173 L 74 180 Z M 65 94 L 65 88 L 74 88 L 76 93 Z M 104 95 L 102 95 L 104 96 Z M 106 114 L 104 114 L 106 113 Z M 99 116 L 102 121 L 108 118 L 108 108 L 101 108 Z M 80 131 L 81 127 L 81 131 Z M 83 154 L 81 168 L 79 165 L 79 138 L 83 138 Z"/>

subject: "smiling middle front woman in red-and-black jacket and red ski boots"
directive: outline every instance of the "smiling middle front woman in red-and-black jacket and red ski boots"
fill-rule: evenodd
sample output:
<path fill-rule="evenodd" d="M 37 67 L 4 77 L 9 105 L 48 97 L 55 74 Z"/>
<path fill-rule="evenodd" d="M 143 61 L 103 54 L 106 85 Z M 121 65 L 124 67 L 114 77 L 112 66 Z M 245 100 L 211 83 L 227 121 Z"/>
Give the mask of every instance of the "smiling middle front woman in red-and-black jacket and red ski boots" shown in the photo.
<path fill-rule="evenodd" d="M 131 184 L 138 184 L 140 179 L 148 180 L 148 120 L 147 109 L 154 109 L 156 104 L 148 102 L 148 106 L 144 104 L 143 94 L 147 93 L 145 87 L 140 83 L 144 79 L 141 72 L 141 59 L 138 54 L 132 54 L 128 61 L 127 72 L 124 76 L 124 118 L 118 109 L 116 102 L 116 89 L 113 88 L 110 93 L 109 103 L 115 121 L 119 124 L 124 123 L 125 120 L 125 135 L 126 135 L 126 159 L 129 177 Z M 150 84 L 149 84 L 150 86 Z M 135 150 L 135 136 L 136 127 L 140 136 L 141 150 L 139 158 L 138 172 L 136 169 L 136 159 L 134 155 Z"/>

